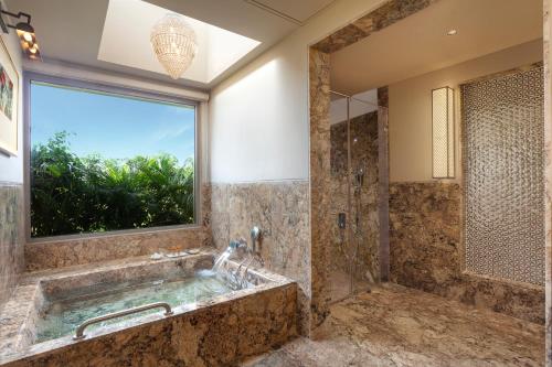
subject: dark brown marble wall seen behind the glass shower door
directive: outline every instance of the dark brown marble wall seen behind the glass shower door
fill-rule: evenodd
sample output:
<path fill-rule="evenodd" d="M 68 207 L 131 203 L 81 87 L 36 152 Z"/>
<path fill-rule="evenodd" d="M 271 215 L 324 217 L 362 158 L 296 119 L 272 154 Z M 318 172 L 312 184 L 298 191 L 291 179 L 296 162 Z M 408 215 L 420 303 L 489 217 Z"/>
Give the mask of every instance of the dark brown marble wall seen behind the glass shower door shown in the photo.
<path fill-rule="evenodd" d="M 354 260 L 354 278 L 380 279 L 380 224 L 379 224 L 379 143 L 378 111 L 358 116 L 350 121 L 351 133 L 351 215 L 348 213 L 348 149 L 347 121 L 331 126 L 331 215 L 332 271 L 350 273 L 350 258 Z M 355 182 L 358 170 L 364 172 L 363 184 Z M 359 212 L 360 209 L 360 212 Z M 352 226 L 353 238 L 349 242 L 347 228 L 337 225 L 339 213 L 346 213 L 347 226 Z M 357 224 L 357 216 L 361 218 Z M 370 273 L 368 274 L 367 271 Z M 333 278 L 333 277 L 332 277 Z M 333 279 L 330 281 L 335 281 Z M 348 287 L 348 283 L 342 284 Z"/>

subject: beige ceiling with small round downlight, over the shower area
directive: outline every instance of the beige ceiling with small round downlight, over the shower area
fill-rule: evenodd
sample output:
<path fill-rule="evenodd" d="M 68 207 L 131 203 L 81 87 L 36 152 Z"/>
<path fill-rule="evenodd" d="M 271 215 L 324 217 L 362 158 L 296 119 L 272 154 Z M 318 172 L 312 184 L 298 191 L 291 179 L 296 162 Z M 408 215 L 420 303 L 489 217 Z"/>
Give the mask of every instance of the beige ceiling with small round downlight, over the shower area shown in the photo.
<path fill-rule="evenodd" d="M 540 37 L 542 0 L 440 0 L 331 54 L 331 88 L 352 95 Z"/>

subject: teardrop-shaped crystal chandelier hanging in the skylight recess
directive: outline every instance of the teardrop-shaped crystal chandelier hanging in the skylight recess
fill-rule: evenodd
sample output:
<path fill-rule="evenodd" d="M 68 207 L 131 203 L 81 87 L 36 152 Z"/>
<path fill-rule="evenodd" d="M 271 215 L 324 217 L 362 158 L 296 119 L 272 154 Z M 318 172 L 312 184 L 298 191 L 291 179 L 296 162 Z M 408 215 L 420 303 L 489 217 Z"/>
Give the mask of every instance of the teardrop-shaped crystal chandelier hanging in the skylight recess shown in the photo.
<path fill-rule="evenodd" d="M 151 46 L 159 63 L 173 79 L 192 64 L 198 53 L 195 32 L 178 14 L 167 14 L 151 29 Z"/>

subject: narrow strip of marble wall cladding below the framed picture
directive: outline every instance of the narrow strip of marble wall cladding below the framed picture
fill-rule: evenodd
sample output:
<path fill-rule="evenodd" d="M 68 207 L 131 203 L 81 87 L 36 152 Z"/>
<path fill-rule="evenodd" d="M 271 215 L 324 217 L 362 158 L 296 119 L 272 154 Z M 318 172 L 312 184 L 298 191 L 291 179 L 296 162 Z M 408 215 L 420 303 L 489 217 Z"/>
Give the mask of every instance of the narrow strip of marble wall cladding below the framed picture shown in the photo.
<path fill-rule="evenodd" d="M 0 309 L 23 271 L 23 187 L 0 183 Z"/>

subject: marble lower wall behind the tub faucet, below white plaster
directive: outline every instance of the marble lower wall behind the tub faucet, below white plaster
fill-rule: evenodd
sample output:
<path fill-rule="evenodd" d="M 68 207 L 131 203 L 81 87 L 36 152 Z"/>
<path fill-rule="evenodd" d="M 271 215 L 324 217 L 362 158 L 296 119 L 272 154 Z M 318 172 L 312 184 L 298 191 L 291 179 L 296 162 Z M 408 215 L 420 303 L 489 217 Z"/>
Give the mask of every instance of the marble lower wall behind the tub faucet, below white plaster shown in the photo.
<path fill-rule="evenodd" d="M 310 309 L 309 185 L 307 181 L 213 183 L 211 225 L 219 251 L 258 226 L 265 267 L 299 285 L 299 326 L 308 330 Z"/>

